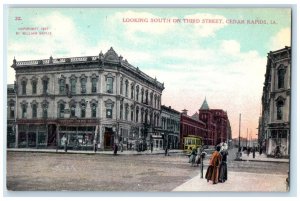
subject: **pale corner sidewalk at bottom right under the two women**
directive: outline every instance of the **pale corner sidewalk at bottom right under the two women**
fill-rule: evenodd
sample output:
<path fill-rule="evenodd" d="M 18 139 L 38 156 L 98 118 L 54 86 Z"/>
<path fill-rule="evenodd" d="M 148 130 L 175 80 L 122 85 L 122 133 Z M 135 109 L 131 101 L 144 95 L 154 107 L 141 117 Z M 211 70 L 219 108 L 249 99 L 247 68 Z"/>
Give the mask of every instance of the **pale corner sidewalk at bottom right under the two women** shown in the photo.
<path fill-rule="evenodd" d="M 205 173 L 206 171 L 204 171 L 204 177 Z M 286 177 L 287 175 L 278 174 L 228 172 L 228 180 L 225 183 L 213 185 L 211 181 L 201 179 L 199 174 L 173 191 L 287 192 Z"/>

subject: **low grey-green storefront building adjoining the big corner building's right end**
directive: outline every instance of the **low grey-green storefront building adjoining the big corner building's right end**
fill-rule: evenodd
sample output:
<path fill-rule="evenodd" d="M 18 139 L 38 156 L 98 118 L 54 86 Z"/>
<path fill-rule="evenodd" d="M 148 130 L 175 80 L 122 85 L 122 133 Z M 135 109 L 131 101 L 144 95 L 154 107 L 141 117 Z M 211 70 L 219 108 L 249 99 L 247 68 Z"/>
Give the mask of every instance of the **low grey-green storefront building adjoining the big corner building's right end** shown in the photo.
<path fill-rule="evenodd" d="M 163 147 L 178 149 L 180 142 L 180 112 L 171 108 L 161 106 L 161 135 Z"/>

